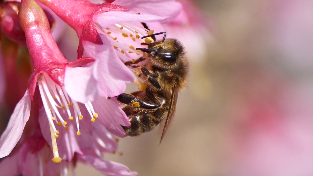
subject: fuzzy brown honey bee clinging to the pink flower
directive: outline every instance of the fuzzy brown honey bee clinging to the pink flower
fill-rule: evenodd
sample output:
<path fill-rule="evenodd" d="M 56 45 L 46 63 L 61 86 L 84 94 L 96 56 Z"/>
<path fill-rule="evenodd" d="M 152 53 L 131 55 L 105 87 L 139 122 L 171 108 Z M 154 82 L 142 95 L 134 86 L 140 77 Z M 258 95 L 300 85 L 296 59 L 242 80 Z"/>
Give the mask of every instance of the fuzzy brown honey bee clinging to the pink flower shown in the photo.
<path fill-rule="evenodd" d="M 163 39 L 156 41 L 155 36 L 160 34 L 164 34 Z M 125 63 L 137 68 L 138 77 L 143 76 L 146 88 L 130 94 L 123 93 L 117 100 L 124 104 L 122 109 L 131 122 L 129 127 L 122 126 L 126 136 L 148 132 L 166 118 L 161 142 L 175 114 L 178 91 L 183 91 L 187 85 L 189 65 L 184 48 L 177 39 L 166 39 L 166 32 L 142 39 L 147 37 L 154 42 L 141 43 L 147 48 L 136 48 L 147 54 Z M 145 65 L 135 65 L 144 60 L 147 60 Z"/>

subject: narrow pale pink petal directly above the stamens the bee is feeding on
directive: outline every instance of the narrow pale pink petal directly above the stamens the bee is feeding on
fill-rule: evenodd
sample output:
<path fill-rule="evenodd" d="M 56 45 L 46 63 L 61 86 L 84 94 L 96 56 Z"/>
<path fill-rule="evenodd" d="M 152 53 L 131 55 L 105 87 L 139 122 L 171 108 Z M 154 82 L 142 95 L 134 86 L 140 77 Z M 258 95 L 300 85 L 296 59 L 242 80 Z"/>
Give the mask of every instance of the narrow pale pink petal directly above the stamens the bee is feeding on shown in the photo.
<path fill-rule="evenodd" d="M 106 13 L 100 13 L 95 15 L 94 19 L 97 22 L 98 26 L 101 28 L 107 28 L 115 23 L 121 22 L 157 22 L 167 19 L 168 17 L 165 15 L 156 16 L 150 14 L 134 14 L 128 12 L 120 12 L 120 11 L 111 11 Z M 102 39 L 103 40 L 103 39 Z M 104 43 L 104 41 L 103 41 Z"/>

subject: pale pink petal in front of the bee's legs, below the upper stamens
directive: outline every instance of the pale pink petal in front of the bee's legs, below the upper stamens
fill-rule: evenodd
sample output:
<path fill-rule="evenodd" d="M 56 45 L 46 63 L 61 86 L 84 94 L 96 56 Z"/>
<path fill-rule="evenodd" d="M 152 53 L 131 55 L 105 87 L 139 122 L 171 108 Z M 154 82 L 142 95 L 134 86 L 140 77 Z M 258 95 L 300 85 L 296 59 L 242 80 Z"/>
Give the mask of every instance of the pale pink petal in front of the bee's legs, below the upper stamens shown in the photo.
<path fill-rule="evenodd" d="M 109 12 L 107 12 L 109 13 Z M 123 93 L 126 83 L 133 82 L 135 75 L 117 57 L 115 50 L 105 35 L 100 35 L 104 44 L 98 45 L 84 41 L 86 56 L 99 60 L 95 67 L 95 75 L 98 77 L 100 95 L 114 97 Z"/>

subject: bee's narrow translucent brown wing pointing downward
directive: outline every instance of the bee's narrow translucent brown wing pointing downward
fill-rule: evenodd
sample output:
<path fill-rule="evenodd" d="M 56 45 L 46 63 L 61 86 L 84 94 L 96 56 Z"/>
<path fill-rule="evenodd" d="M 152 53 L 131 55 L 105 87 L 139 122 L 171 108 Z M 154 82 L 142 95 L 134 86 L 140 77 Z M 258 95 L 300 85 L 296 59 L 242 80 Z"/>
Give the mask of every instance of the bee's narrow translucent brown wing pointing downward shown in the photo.
<path fill-rule="evenodd" d="M 167 129 L 168 129 L 172 119 L 175 116 L 177 96 L 178 96 L 178 89 L 177 89 L 177 84 L 175 83 L 173 86 L 173 91 L 172 91 L 170 109 L 168 110 L 168 114 L 167 114 L 167 118 L 166 118 L 165 125 L 163 128 L 160 143 L 162 142 L 162 139 L 165 136 L 165 133 L 167 132 Z"/>

